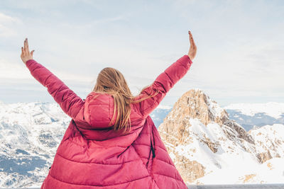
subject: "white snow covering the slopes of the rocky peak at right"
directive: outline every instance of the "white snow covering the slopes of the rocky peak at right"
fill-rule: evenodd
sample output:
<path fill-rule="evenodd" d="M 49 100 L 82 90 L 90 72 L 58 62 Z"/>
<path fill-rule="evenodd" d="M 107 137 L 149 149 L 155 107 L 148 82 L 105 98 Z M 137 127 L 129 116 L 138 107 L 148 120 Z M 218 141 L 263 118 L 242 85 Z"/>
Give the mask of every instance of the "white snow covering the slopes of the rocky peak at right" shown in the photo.
<path fill-rule="evenodd" d="M 185 156 L 190 161 L 197 161 L 204 166 L 205 175 L 192 183 L 187 184 L 241 184 L 241 183 L 283 183 L 284 181 L 284 125 L 266 125 L 257 130 L 251 130 L 256 145 L 244 141 L 244 139 L 228 139 L 224 130 L 234 133 L 234 130 L 225 125 L 211 122 L 202 124 L 197 118 L 187 120 L 190 127 L 186 127 L 190 133 L 190 139 L 172 149 L 179 156 Z M 259 135 L 258 133 L 263 133 Z M 279 145 L 275 141 L 279 139 Z M 216 144 L 217 152 L 213 152 L 204 141 Z M 258 142 L 261 141 L 261 144 Z M 274 143 L 273 143 L 274 142 Z M 281 156 L 274 156 L 263 164 L 258 162 L 256 154 L 271 149 L 274 145 Z M 169 146 L 169 145 L 167 145 Z M 253 149 L 253 147 L 255 147 Z M 175 159 L 173 151 L 171 158 Z"/>

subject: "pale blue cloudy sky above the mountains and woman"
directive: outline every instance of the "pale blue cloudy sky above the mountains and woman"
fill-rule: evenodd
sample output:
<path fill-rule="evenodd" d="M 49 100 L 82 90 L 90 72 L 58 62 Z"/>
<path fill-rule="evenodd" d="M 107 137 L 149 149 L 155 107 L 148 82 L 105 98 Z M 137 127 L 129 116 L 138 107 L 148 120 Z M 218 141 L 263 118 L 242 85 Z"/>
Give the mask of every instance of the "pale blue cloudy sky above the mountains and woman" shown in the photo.
<path fill-rule="evenodd" d="M 284 102 L 284 1 L 0 1 L 0 101 L 55 102 L 21 61 L 33 59 L 85 98 L 104 67 L 133 95 L 190 47 L 197 55 L 160 105 L 199 88 L 219 105 Z"/>

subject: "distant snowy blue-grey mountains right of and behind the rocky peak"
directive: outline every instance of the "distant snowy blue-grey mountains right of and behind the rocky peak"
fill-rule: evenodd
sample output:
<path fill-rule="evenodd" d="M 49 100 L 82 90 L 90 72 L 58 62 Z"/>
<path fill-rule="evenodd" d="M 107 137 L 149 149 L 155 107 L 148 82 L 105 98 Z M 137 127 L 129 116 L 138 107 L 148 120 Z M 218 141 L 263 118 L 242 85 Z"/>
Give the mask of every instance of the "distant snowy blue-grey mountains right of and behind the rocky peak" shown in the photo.
<path fill-rule="evenodd" d="M 284 124 L 284 103 L 233 103 L 224 109 L 229 118 L 246 131 L 263 125 Z"/>

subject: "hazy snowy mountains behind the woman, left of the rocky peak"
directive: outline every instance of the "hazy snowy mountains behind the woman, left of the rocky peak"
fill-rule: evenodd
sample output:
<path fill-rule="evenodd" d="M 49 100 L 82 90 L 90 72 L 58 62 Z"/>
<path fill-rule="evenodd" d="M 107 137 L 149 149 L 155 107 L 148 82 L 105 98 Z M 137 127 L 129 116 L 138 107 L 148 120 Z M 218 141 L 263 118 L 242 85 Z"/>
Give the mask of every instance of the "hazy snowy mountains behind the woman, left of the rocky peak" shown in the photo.
<path fill-rule="evenodd" d="M 155 125 L 169 111 L 151 113 Z M 0 101 L 0 188 L 40 187 L 70 120 L 57 103 Z"/>

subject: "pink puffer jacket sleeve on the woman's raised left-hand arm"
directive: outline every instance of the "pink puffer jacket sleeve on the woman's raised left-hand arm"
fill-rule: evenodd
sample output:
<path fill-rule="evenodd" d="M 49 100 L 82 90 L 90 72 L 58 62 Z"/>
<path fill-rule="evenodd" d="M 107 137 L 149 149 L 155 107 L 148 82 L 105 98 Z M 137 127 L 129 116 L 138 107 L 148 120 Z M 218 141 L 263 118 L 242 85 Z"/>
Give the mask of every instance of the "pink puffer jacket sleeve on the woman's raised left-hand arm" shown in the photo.
<path fill-rule="evenodd" d="M 60 105 L 62 110 L 74 119 L 79 113 L 80 108 L 84 105 L 82 98 L 70 90 L 57 76 L 43 67 L 34 59 L 26 62 L 26 67 L 31 71 L 32 76 L 43 86 L 48 88 L 48 93 L 53 96 L 54 100 Z"/>

